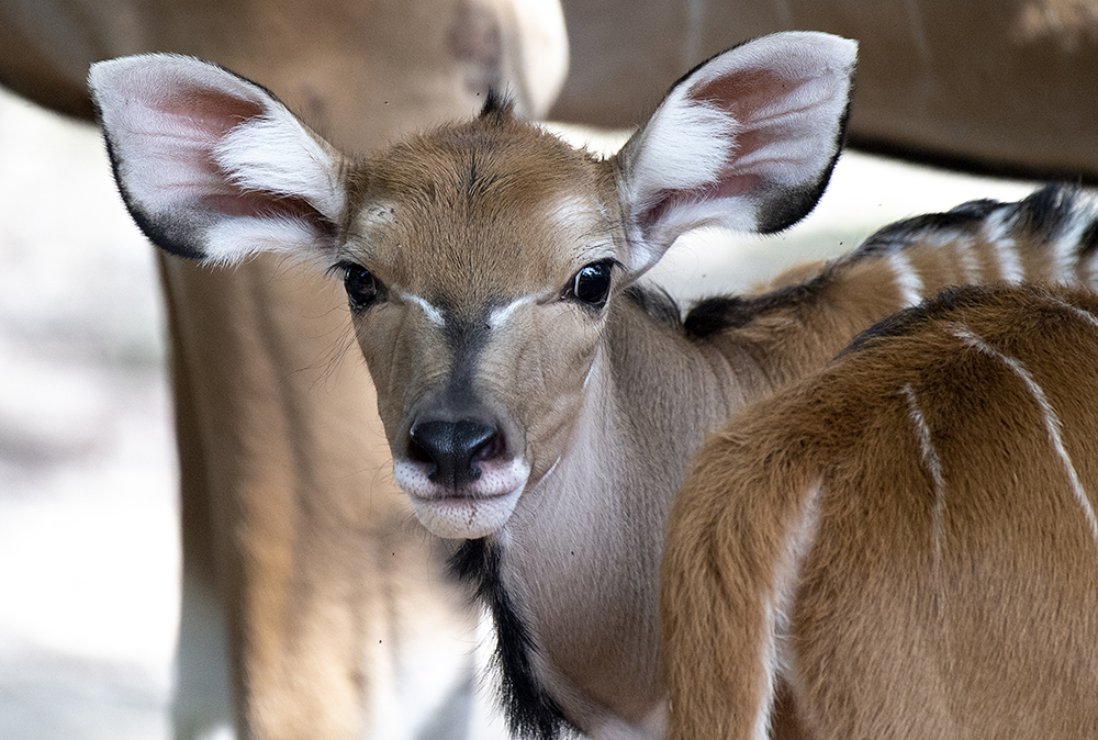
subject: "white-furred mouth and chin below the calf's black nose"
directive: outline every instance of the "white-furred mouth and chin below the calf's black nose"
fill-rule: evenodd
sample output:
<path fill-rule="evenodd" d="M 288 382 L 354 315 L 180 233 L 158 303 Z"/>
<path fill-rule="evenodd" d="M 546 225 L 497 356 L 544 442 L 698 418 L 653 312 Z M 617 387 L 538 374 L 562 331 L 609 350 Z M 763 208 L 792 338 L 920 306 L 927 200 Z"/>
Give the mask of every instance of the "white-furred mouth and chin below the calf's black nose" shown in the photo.
<path fill-rule="evenodd" d="M 529 466 L 519 460 L 492 468 L 459 491 L 433 483 L 424 466 L 413 461 L 394 462 L 393 479 L 412 498 L 416 518 L 433 535 L 479 539 L 507 523 L 530 474 Z"/>

